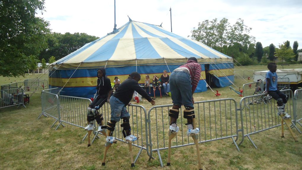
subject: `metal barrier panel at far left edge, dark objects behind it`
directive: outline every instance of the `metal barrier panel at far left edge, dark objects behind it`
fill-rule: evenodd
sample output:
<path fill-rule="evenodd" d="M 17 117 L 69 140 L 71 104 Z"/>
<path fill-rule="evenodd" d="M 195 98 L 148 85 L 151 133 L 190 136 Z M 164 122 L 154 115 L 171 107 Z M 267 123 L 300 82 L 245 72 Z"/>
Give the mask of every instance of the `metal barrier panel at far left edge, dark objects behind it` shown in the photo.
<path fill-rule="evenodd" d="M 23 89 L 11 88 L 2 86 L 3 90 L 0 90 L 0 108 L 21 105 L 24 106 Z M 25 107 L 26 108 L 26 107 Z"/>

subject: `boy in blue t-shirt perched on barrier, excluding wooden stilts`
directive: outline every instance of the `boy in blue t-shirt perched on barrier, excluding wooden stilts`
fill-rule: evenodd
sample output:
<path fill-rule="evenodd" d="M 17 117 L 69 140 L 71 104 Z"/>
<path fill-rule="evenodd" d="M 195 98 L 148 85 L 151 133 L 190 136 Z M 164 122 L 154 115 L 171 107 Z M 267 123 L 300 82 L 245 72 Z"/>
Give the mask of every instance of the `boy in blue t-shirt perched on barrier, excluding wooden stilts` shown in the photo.
<path fill-rule="evenodd" d="M 272 98 L 277 101 L 278 115 L 283 119 L 290 119 L 291 116 L 284 111 L 285 104 L 288 96 L 284 95 L 277 89 L 277 65 L 276 63 L 268 63 L 267 68 L 269 71 L 266 73 L 266 91 Z"/>

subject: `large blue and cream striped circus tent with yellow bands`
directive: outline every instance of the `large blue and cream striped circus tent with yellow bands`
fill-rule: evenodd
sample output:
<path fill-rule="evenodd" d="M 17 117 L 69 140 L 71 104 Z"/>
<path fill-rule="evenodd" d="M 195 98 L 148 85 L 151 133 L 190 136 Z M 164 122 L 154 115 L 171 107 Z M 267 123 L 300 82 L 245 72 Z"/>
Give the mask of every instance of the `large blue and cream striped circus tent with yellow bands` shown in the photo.
<path fill-rule="evenodd" d="M 206 91 L 206 72 L 217 87 L 225 87 L 234 80 L 233 59 L 201 42 L 180 37 L 161 26 L 129 21 L 79 50 L 51 65 L 49 87 L 62 88 L 61 95 L 90 98 L 95 94 L 97 69 L 106 66 L 106 76 L 113 83 L 118 76 L 121 82 L 137 71 L 144 83 L 145 75 L 158 77 L 163 70 L 172 72 L 196 57 L 201 64 L 201 80 L 195 92 Z M 232 81 L 232 82 L 230 82 Z"/>

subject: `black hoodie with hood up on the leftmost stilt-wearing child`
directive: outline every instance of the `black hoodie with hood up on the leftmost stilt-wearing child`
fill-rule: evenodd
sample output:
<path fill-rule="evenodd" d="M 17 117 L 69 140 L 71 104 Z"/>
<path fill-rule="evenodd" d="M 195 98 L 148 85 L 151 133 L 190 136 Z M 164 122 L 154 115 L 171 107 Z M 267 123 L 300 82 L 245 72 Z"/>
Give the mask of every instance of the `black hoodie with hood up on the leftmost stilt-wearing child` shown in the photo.
<path fill-rule="evenodd" d="M 107 97 L 108 96 L 108 92 L 110 90 L 112 90 L 112 87 L 111 87 L 111 82 L 110 82 L 110 79 L 108 79 L 106 77 L 106 70 L 104 67 L 101 67 L 100 69 L 98 70 L 101 70 L 103 72 L 103 77 L 98 77 L 98 83 L 97 83 L 97 86 L 96 86 L 96 95 L 97 97 Z M 98 70 L 97 70 L 97 76 L 98 76 Z"/>

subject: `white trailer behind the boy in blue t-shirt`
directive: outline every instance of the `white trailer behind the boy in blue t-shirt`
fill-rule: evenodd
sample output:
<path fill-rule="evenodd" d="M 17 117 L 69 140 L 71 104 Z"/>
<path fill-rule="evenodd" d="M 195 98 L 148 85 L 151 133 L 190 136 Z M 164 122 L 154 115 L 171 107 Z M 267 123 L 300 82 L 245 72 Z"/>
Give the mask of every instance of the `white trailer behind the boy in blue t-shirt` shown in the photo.
<path fill-rule="evenodd" d="M 258 79 L 264 80 L 267 71 L 254 72 L 254 82 Z M 278 78 L 289 78 L 289 84 L 294 91 L 298 87 L 302 87 L 302 69 L 277 69 Z"/>

